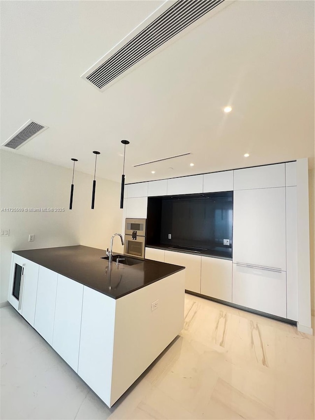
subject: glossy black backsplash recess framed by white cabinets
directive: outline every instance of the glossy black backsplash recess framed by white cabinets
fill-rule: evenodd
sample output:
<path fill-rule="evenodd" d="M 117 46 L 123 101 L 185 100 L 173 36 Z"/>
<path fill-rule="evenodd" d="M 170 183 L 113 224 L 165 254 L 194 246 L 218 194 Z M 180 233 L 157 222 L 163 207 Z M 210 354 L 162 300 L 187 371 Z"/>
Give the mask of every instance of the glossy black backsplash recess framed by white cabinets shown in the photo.
<path fill-rule="evenodd" d="M 232 191 L 148 198 L 147 245 L 232 257 L 232 228 Z"/>

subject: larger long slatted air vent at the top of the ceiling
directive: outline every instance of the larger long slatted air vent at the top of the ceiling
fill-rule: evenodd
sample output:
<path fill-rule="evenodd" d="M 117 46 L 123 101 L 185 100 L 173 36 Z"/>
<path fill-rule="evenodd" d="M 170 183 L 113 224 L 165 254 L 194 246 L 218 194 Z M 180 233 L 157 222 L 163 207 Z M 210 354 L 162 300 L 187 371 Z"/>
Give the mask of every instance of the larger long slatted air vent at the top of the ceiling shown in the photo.
<path fill-rule="evenodd" d="M 129 67 L 187 28 L 224 0 L 179 0 L 130 39 L 105 62 L 82 75 L 101 90 Z"/>

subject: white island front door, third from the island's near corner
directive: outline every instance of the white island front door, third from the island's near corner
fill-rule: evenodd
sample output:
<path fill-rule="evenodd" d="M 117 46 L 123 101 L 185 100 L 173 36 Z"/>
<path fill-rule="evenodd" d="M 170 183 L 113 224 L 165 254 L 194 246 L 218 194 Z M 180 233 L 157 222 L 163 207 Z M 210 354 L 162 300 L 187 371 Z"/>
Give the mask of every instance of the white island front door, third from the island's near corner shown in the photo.
<path fill-rule="evenodd" d="M 39 266 L 35 330 L 50 344 L 53 342 L 58 274 Z"/>

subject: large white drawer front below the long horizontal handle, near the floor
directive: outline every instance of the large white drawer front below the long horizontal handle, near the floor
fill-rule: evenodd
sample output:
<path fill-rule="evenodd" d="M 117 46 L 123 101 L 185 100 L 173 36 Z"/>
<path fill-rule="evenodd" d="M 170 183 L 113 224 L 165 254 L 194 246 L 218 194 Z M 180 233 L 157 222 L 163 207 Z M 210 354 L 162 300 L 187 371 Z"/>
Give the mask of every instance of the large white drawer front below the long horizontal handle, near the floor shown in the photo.
<path fill-rule="evenodd" d="M 285 272 L 233 264 L 232 302 L 286 318 Z"/>

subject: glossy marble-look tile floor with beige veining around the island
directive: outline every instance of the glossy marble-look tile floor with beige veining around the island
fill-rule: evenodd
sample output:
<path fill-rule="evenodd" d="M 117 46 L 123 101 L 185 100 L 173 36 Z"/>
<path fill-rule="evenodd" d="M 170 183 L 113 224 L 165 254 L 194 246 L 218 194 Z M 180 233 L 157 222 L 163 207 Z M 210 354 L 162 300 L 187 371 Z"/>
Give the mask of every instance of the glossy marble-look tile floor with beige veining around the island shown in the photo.
<path fill-rule="evenodd" d="M 291 325 L 187 294 L 180 336 L 109 409 L 11 306 L 0 322 L 2 420 L 314 419 L 314 336 Z"/>

